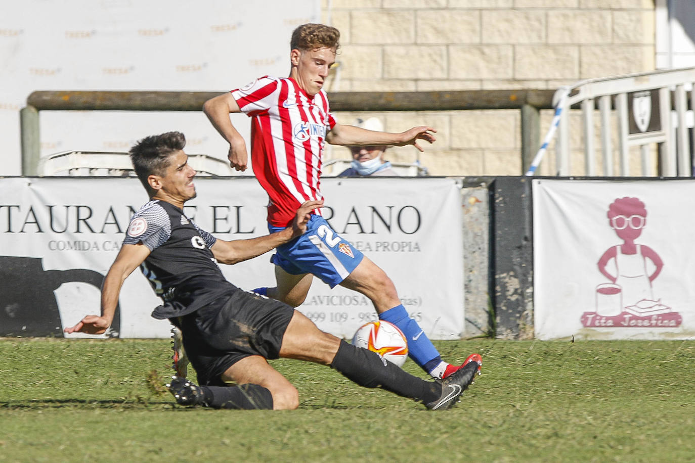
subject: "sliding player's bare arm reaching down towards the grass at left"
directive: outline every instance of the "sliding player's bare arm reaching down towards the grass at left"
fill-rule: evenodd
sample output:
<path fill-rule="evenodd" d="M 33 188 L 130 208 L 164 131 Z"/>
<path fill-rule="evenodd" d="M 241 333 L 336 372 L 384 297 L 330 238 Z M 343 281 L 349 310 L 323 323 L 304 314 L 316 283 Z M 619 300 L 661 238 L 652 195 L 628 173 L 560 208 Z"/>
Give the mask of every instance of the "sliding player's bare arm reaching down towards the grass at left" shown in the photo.
<path fill-rule="evenodd" d="M 86 332 L 90 335 L 101 335 L 111 326 L 113 315 L 118 305 L 118 295 L 123 282 L 142 264 L 149 255 L 149 249 L 144 244 L 124 244 L 106 273 L 101 285 L 101 316 L 87 315 L 75 326 L 65 328 L 65 332 Z"/>

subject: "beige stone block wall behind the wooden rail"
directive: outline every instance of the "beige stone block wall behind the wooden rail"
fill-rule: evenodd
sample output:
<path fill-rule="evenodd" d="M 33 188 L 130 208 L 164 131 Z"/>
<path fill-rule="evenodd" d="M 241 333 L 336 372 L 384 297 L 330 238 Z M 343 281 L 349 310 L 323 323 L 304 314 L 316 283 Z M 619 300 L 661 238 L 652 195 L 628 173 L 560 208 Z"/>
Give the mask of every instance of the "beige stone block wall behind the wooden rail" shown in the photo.
<path fill-rule="evenodd" d="M 322 0 L 322 20 L 342 34 L 329 92 L 556 89 L 655 69 L 653 0 Z M 541 138 L 552 115 L 543 111 Z M 430 174 L 522 174 L 516 110 L 379 116 L 388 131 L 437 129 L 436 144 L 419 155 Z M 577 137 L 573 174 L 581 175 Z M 554 174 L 552 148 L 541 175 Z M 330 156 L 347 154 L 334 148 Z M 417 156 L 410 146 L 387 151 L 402 162 Z"/>

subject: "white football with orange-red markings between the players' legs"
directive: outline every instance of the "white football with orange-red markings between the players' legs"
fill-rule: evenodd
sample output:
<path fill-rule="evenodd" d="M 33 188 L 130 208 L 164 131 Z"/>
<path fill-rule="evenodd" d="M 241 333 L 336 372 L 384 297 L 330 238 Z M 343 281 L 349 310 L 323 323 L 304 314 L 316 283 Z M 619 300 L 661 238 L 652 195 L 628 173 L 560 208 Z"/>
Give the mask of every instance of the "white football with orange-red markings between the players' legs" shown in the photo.
<path fill-rule="evenodd" d="M 376 352 L 389 362 L 402 367 L 408 358 L 408 342 L 403 332 L 388 321 L 370 321 L 360 326 L 352 344 Z"/>

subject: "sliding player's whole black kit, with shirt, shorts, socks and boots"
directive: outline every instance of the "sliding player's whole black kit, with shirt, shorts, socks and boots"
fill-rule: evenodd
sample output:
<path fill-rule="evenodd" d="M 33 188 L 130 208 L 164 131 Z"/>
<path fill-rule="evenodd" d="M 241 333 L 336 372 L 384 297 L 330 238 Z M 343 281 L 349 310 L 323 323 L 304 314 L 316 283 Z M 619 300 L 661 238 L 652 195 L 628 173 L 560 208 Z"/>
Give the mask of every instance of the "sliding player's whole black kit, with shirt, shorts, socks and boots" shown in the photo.
<path fill-rule="evenodd" d="M 225 387 L 221 376 L 250 355 L 278 358 L 295 310 L 283 302 L 245 292 L 225 280 L 211 251 L 215 242 L 215 237 L 193 224 L 181 209 L 154 200 L 133 215 L 123 244 L 142 243 L 151 251 L 140 269 L 164 301 L 152 316 L 169 319 L 183 332 L 183 346 L 200 385 L 195 391 L 200 395 L 193 400 L 181 397 L 185 394 L 181 392 L 179 403 L 215 408 L 272 408 L 272 394 L 265 387 Z M 436 401 L 439 396 L 445 396 L 446 403 L 458 397 L 443 394 L 440 383 L 411 376 L 376 353 L 344 340 L 331 367 L 358 385 L 386 389 L 422 401 L 430 408 L 441 406 Z M 177 377 L 172 378 L 172 384 L 181 391 L 190 388 L 190 383 Z M 461 387 L 458 391 L 460 394 Z"/>

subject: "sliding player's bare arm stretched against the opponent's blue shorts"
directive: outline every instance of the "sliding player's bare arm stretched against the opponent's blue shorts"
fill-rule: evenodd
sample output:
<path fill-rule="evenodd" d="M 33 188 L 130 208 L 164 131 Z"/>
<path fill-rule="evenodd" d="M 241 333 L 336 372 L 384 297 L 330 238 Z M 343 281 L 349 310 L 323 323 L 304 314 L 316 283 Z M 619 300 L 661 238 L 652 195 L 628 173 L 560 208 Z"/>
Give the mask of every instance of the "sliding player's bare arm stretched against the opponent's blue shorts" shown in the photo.
<path fill-rule="evenodd" d="M 213 255 L 222 264 L 236 264 L 267 253 L 271 249 L 275 249 L 277 246 L 302 235 L 306 231 L 306 224 L 311 217 L 311 211 L 320 208 L 322 205 L 323 201 L 304 202 L 297 209 L 295 218 L 287 228 L 270 235 L 250 239 L 234 239 L 232 241 L 218 239 L 211 248 Z"/>

